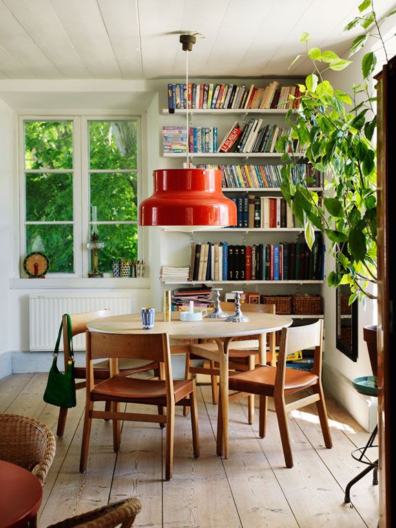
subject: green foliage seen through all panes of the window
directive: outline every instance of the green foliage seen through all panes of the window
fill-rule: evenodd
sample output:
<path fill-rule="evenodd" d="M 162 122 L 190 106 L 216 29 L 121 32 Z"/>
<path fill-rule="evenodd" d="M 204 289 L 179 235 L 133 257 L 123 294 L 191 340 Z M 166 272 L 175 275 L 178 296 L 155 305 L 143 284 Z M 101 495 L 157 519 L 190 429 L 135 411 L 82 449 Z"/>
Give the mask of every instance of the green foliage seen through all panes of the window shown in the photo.
<path fill-rule="evenodd" d="M 111 271 L 112 257 L 136 260 L 137 222 L 137 123 L 133 120 L 89 121 L 90 204 L 97 208 L 101 271 Z M 84 155 L 84 153 L 83 153 Z M 43 169 L 41 173 L 29 171 Z M 70 172 L 48 173 L 45 169 Z M 73 220 L 73 123 L 25 121 L 25 193 L 28 222 Z M 131 173 L 119 170 L 132 169 Z M 74 182 L 74 184 L 78 184 Z M 89 215 L 90 216 L 90 215 Z M 26 251 L 44 251 L 52 273 L 73 273 L 73 225 L 26 226 Z"/>

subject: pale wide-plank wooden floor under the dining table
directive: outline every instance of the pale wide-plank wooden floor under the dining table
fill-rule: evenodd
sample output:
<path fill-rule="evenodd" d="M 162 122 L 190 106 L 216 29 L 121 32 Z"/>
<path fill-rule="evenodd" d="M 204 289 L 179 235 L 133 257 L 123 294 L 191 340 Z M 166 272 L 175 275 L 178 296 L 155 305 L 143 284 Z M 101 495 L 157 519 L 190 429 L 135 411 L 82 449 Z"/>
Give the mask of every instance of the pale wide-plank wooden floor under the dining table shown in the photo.
<path fill-rule="evenodd" d="M 0 380 L 0 412 L 25 414 L 56 428 L 57 408 L 43 402 L 45 374 L 13 374 Z M 157 424 L 123 425 L 121 450 L 112 450 L 112 425 L 95 420 L 88 471 L 79 473 L 85 393 L 78 391 L 65 436 L 43 491 L 39 527 L 121 498 L 135 496 L 142 511 L 136 527 L 173 528 L 375 528 L 378 487 L 371 474 L 352 488 L 346 483 L 363 469 L 351 450 L 368 434 L 327 398 L 334 447 L 327 450 L 315 408 L 293 411 L 289 420 L 295 465 L 284 467 L 278 425 L 270 410 L 268 433 L 247 425 L 244 401 L 230 408 L 230 456 L 216 456 L 216 407 L 209 387 L 198 388 L 201 456 L 192 456 L 189 418 L 176 410 L 174 477 L 163 482 L 165 434 Z M 154 410 L 153 410 L 154 412 Z M 258 413 L 257 413 L 258 414 Z M 257 418 L 257 415 L 256 415 Z"/>

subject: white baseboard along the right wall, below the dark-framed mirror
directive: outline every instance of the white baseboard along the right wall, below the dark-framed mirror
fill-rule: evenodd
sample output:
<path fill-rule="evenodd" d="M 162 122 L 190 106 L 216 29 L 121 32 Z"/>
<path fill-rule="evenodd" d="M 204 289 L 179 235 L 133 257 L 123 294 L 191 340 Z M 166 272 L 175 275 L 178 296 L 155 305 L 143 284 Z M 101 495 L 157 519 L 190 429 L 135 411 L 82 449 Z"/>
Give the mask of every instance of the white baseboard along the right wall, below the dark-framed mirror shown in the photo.
<path fill-rule="evenodd" d="M 373 431 L 378 421 L 377 398 L 357 392 L 351 380 L 327 363 L 323 363 L 322 379 L 326 392 L 339 401 L 366 431 Z"/>

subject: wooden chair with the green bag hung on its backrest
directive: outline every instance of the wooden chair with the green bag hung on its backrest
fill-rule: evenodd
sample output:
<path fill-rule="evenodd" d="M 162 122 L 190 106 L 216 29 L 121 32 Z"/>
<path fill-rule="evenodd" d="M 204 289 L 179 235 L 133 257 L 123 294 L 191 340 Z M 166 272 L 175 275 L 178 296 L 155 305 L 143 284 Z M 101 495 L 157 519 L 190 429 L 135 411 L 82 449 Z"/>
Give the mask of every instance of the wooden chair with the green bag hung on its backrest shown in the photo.
<path fill-rule="evenodd" d="M 96 312 L 83 312 L 70 314 L 72 321 L 72 336 L 82 334 L 87 330 L 87 323 L 100 317 L 109 317 L 110 310 L 97 310 Z M 69 359 L 69 341 L 67 339 L 67 317 L 63 315 L 63 350 L 65 356 L 65 369 L 67 368 L 67 361 Z M 135 372 L 142 372 L 143 370 L 158 370 L 158 363 L 152 361 L 136 361 L 131 359 L 124 359 L 120 362 L 121 372 L 127 376 Z M 95 379 L 110 378 L 110 364 L 109 361 L 101 361 L 95 363 Z M 76 379 L 85 379 L 85 366 L 74 367 L 74 377 Z M 85 388 L 85 381 L 76 383 L 76 389 Z M 65 432 L 65 423 L 67 418 L 67 408 L 61 407 L 59 409 L 58 426 L 56 427 L 56 436 L 63 436 Z"/>

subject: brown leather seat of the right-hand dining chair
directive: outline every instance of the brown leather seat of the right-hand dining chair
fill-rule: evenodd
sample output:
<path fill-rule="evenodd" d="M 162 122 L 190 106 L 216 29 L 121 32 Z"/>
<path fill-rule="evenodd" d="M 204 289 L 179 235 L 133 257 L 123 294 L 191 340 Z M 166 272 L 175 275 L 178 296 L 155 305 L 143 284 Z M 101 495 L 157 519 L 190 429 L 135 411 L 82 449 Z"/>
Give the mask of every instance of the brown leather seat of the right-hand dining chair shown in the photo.
<path fill-rule="evenodd" d="M 276 367 L 259 367 L 247 372 L 238 372 L 229 377 L 230 390 L 273 396 Z M 286 368 L 284 374 L 284 394 L 293 394 L 296 390 L 317 383 L 317 375 L 312 372 Z"/>

